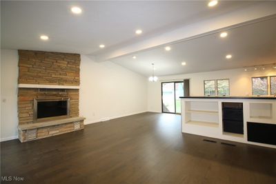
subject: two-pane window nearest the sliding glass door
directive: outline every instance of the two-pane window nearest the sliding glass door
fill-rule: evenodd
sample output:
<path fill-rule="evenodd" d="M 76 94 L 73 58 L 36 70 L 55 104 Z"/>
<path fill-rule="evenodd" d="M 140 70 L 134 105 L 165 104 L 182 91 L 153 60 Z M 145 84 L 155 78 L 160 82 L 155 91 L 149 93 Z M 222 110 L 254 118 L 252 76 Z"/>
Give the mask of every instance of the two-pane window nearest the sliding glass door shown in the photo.
<path fill-rule="evenodd" d="M 229 79 L 205 80 L 204 81 L 204 95 L 205 96 L 228 96 Z"/>

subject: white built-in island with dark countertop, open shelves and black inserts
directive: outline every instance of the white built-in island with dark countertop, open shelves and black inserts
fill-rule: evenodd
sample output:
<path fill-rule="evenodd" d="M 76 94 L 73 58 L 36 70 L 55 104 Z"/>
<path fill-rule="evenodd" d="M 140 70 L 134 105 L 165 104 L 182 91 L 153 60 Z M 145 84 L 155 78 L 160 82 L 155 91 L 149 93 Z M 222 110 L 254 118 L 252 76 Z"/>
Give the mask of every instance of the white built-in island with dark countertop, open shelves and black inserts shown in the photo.
<path fill-rule="evenodd" d="M 274 96 L 180 98 L 182 132 L 276 148 Z"/>

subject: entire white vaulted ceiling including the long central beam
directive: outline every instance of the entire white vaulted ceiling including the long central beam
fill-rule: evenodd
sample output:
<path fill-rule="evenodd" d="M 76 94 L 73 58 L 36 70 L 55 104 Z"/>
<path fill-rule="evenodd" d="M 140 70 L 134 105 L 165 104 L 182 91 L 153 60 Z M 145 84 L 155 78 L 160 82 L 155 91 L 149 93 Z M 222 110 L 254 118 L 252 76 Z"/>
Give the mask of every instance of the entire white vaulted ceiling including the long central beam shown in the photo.
<path fill-rule="evenodd" d="M 275 1 L 219 1 L 212 8 L 207 4 L 1 1 L 1 48 L 90 54 L 95 61 L 113 61 L 145 76 L 150 74 L 152 62 L 159 75 L 167 75 L 275 60 L 275 22 L 266 23 L 275 21 Z M 72 14 L 72 6 L 80 7 L 82 13 Z M 257 23 L 261 19 L 264 25 Z M 143 33 L 135 34 L 137 29 Z M 224 29 L 229 35 L 221 40 L 217 34 Z M 49 40 L 41 41 L 41 34 Z M 100 44 L 106 47 L 101 49 Z M 171 45 L 172 50 L 164 52 L 164 45 Z M 225 62 L 228 52 L 233 53 L 233 59 Z M 132 59 L 133 54 L 137 59 Z M 179 66 L 182 61 L 186 61 L 186 68 Z"/>

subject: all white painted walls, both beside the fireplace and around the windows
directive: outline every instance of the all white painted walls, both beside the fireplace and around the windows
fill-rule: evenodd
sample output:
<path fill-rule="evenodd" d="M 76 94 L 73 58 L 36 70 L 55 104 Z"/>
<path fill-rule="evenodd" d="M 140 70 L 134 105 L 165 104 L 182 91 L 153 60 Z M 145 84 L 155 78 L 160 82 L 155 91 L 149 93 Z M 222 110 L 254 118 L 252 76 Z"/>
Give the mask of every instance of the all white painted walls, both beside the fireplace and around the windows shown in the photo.
<path fill-rule="evenodd" d="M 17 137 L 17 50 L 1 50 L 1 141 Z M 95 123 L 128 114 L 161 112 L 161 81 L 190 79 L 190 94 L 204 95 L 204 79 L 230 79 L 230 95 L 251 94 L 251 77 L 276 75 L 276 70 L 220 70 L 160 77 L 146 77 L 110 62 L 96 63 L 81 55 L 80 115 Z"/>

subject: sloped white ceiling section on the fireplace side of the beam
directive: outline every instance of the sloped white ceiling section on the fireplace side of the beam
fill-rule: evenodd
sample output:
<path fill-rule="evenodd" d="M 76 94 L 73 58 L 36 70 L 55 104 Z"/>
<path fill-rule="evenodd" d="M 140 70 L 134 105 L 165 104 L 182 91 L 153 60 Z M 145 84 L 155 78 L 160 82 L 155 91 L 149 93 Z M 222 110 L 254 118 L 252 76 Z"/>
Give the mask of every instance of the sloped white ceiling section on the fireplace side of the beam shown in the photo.
<path fill-rule="evenodd" d="M 257 1 L 1 1 L 1 48 L 100 54 Z M 72 14 L 79 6 L 83 13 Z M 141 28 L 144 34 L 135 35 Z M 39 35 L 46 34 L 48 41 Z M 105 44 L 104 50 L 99 44 Z"/>

